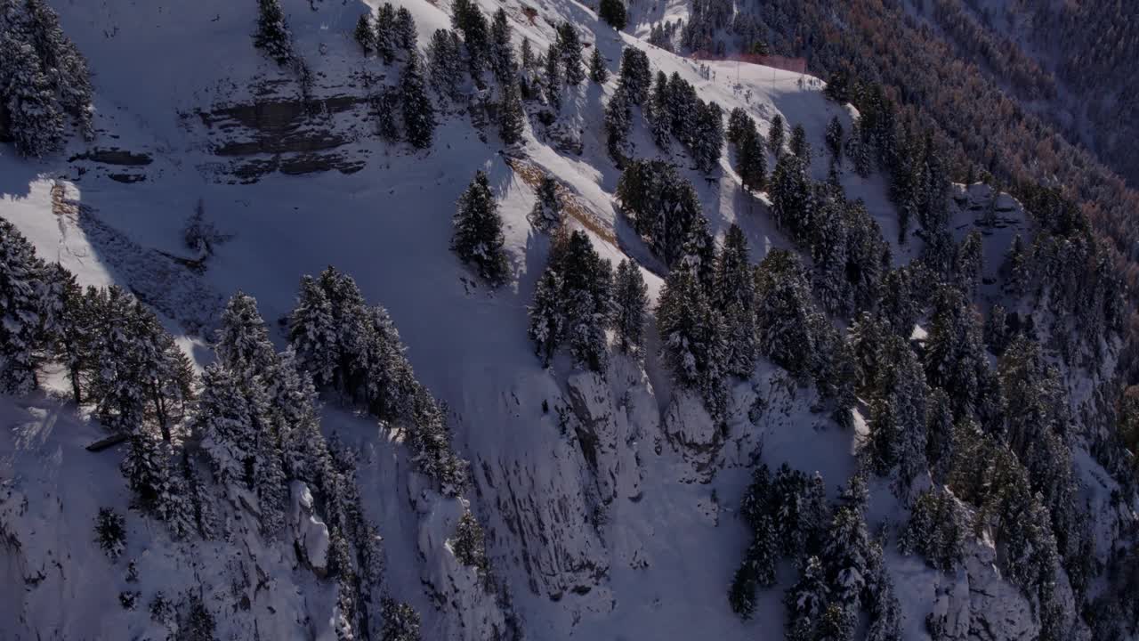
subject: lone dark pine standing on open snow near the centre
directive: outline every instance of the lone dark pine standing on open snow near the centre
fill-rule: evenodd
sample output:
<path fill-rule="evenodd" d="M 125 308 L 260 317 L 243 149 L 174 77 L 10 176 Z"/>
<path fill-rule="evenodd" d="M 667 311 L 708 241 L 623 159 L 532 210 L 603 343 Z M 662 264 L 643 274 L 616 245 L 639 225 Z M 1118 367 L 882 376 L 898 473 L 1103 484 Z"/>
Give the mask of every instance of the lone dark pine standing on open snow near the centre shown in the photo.
<path fill-rule="evenodd" d="M 492 286 L 502 284 L 509 275 L 503 250 L 502 218 L 491 194 L 486 173 L 478 170 L 459 198 L 454 214 L 451 250 L 464 262 L 473 263 L 478 275 Z"/>

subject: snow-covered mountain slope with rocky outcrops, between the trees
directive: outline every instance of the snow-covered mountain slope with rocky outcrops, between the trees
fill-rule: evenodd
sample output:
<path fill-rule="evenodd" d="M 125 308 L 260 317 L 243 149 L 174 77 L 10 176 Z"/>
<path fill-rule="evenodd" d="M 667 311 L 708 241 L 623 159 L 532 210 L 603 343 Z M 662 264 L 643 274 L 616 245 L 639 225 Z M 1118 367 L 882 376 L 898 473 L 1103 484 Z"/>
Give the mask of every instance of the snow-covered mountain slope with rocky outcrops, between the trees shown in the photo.
<path fill-rule="evenodd" d="M 528 219 L 535 169 L 552 175 L 574 203 L 567 208 L 572 228 L 588 230 L 603 258 L 633 258 L 650 298 L 659 291 L 665 268 L 618 213 L 614 196 L 620 170 L 607 155 L 601 121 L 615 73 L 603 86 L 567 90 L 557 132 L 532 117 L 522 143 L 508 147 L 494 127 L 478 127 L 475 107 L 452 107 L 432 148 L 417 152 L 375 135 L 368 83 L 395 79 L 360 54 L 352 29 L 379 3 L 282 5 L 295 47 L 313 72 L 308 97 L 290 71 L 254 49 L 252 0 L 55 2 L 95 72 L 97 137 L 91 145 L 76 139 L 65 154 L 42 161 L 0 147 L 0 216 L 81 285 L 132 291 L 161 315 L 198 368 L 214 358 L 212 332 L 235 291 L 256 298 L 278 347 L 286 342 L 278 320 L 293 309 L 301 277 L 328 265 L 351 274 L 369 302 L 384 305 L 416 375 L 449 407 L 473 488 L 462 498 L 434 493 L 388 430 L 331 401 L 323 431 L 358 451 L 362 504 L 384 537 L 384 589 L 421 614 L 425 639 L 780 638 L 780 590 L 761 593 L 751 620 L 737 617 L 726 598 L 749 542 L 736 513 L 749 470 L 762 461 L 819 472 L 834 498 L 855 470 L 861 415 L 855 424 L 862 429 L 842 429 L 812 411 L 813 388 L 764 362 L 752 381 L 730 390 L 721 429 L 698 397 L 674 389 L 655 356 L 655 336 L 646 363 L 615 355 L 605 379 L 568 360 L 543 368 L 526 339 L 526 306 L 550 248 L 549 235 Z M 745 108 L 761 132 L 776 114 L 803 124 L 816 149 L 825 148 L 831 117 L 850 129 L 854 115 L 826 100 L 817 79 L 735 63 L 702 70 L 613 31 L 571 0 L 480 5 L 487 13 L 503 7 L 515 44 L 527 38 L 538 51 L 552 42 L 555 25 L 570 21 L 611 72 L 623 47 L 640 47 L 654 71 L 679 74 L 724 112 Z M 421 47 L 436 29 L 450 26 L 445 1 L 399 6 L 413 16 Z M 632 143 L 638 156 L 659 154 L 644 122 Z M 697 188 L 711 232 L 721 238 L 738 225 L 753 261 L 775 248 L 793 249 L 767 196 L 740 189 L 730 157 L 705 180 L 683 153 L 674 155 Z M 505 222 L 511 278 L 498 290 L 449 249 L 454 202 L 478 169 L 489 176 Z M 826 177 L 823 153 L 811 173 Z M 846 171 L 841 180 L 849 197 L 866 203 L 894 262 L 913 258 L 918 243 L 896 242 L 885 179 Z M 958 188 L 951 226 L 958 238 L 988 206 L 983 192 Z M 1006 204 L 1006 224 L 985 237 L 990 276 L 1013 234 L 1030 234 L 1019 205 Z M 181 236 L 198 206 L 228 236 L 204 269 L 188 265 L 196 257 Z M 1001 295 L 994 286 L 984 293 L 989 302 Z M 58 378 L 49 381 L 55 391 L 64 387 Z M 50 391 L 0 401 L 0 636 L 154 638 L 161 626 L 146 607 L 124 609 L 118 593 L 138 591 L 145 605 L 161 590 L 197 591 L 215 612 L 221 639 L 331 638 L 335 587 L 294 553 L 294 543 L 320 547 L 320 524 L 305 512 L 304 488 L 294 488 L 290 529 L 278 541 L 237 525 L 230 541 L 172 542 L 128 509 L 121 453 L 83 449 L 101 428 Z M 1090 477 L 1108 478 L 1089 456 L 1081 465 Z M 906 518 L 880 485 L 872 487 L 871 527 Z M 1090 494 L 1103 501 L 1112 489 Z M 491 587 L 450 550 L 464 502 L 486 532 Z M 116 563 L 91 541 L 101 506 L 130 514 L 128 550 Z M 239 502 L 226 510 L 241 514 Z M 966 569 L 948 577 L 891 552 L 904 638 L 921 638 L 935 608 L 957 622 L 950 638 L 1034 638 L 1032 605 L 1000 578 L 995 553 L 992 542 L 977 542 Z M 136 561 L 137 581 L 126 577 L 126 559 Z M 781 587 L 794 581 L 785 566 Z M 57 608 L 64 599 L 79 606 Z"/>

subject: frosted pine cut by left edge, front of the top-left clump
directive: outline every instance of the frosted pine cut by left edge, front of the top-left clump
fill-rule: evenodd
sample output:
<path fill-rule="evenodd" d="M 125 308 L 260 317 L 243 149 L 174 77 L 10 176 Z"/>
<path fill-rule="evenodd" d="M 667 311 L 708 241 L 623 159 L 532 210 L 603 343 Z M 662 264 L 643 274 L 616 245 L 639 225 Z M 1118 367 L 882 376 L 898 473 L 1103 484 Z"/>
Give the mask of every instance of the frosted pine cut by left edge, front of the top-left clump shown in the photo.
<path fill-rule="evenodd" d="M 41 157 L 60 148 L 64 115 L 35 48 L 5 33 L 0 35 L 0 57 L 5 59 L 0 95 L 5 96 L 16 151 L 24 156 Z"/>

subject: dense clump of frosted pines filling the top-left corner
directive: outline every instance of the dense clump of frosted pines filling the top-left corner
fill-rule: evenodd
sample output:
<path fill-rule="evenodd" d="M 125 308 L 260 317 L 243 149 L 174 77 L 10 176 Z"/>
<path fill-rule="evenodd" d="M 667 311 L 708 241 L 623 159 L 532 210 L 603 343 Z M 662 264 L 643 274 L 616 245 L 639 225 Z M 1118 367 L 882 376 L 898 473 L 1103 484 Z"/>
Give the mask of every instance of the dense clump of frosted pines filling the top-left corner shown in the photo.
<path fill-rule="evenodd" d="M 60 149 L 69 117 L 84 139 L 95 136 L 87 58 L 43 0 L 0 3 L 0 135 L 24 156 Z M 7 131 L 3 131 L 7 129 Z"/>

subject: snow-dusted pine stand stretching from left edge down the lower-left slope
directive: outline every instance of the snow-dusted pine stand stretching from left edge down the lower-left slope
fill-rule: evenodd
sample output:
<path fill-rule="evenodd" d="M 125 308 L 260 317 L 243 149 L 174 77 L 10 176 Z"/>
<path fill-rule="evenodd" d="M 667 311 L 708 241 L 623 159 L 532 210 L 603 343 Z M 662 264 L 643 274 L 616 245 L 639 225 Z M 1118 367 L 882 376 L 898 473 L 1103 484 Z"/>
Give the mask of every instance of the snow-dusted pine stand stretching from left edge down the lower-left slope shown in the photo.
<path fill-rule="evenodd" d="M 216 332 L 218 359 L 197 378 L 142 302 L 117 286 L 80 287 L 0 219 L 0 384 L 28 393 L 46 360 L 63 365 L 73 400 L 125 443 L 121 468 L 132 506 L 175 538 L 230 536 L 232 520 L 221 511 L 239 508 L 219 503 L 235 493 L 261 534 L 276 538 L 287 532 L 289 484 L 308 484 L 329 527 L 337 625 L 368 635 L 384 609 L 384 551 L 362 512 L 351 453 L 321 433 L 309 372 L 322 388 L 358 395 L 353 400 L 384 420 L 396 421 L 405 404 L 407 423 L 416 425 L 413 460 L 443 492 L 461 492 L 466 464 L 450 451 L 445 413 L 415 381 L 382 308 L 366 309 L 351 278 L 333 269 L 306 278 L 298 300 L 293 348 L 277 352 L 256 301 L 236 293 Z M 100 522 L 113 549 L 115 519 Z M 164 606 L 156 600 L 151 608 Z M 208 610 L 199 610 L 191 618 L 207 622 Z"/>

